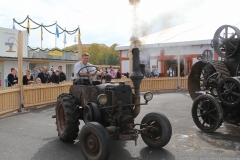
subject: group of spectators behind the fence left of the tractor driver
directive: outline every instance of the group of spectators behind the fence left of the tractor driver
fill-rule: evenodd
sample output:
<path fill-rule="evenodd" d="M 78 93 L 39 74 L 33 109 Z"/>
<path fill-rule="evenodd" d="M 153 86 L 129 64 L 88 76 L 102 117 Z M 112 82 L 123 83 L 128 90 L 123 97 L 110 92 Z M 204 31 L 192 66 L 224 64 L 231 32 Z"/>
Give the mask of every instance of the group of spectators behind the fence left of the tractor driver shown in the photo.
<path fill-rule="evenodd" d="M 8 87 L 18 84 L 18 73 L 16 68 L 11 68 L 11 72 L 7 76 Z M 46 66 L 41 68 L 41 71 L 38 67 L 34 68 L 33 74 L 31 70 L 26 70 L 25 75 L 22 78 L 23 85 L 30 84 L 44 84 L 44 83 L 59 83 L 66 81 L 66 74 L 62 71 L 62 66 L 58 66 L 58 69 L 54 70 L 51 67 L 50 71 Z"/>

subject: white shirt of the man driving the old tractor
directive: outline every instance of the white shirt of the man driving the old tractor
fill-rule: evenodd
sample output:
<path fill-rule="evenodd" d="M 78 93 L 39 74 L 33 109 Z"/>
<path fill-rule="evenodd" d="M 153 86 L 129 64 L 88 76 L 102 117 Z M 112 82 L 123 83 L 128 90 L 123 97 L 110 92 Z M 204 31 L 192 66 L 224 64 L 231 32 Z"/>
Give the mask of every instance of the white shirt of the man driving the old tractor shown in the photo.
<path fill-rule="evenodd" d="M 93 66 L 91 63 L 87 63 L 86 66 Z M 83 67 L 86 67 L 82 61 L 81 62 L 77 62 L 75 65 L 74 65 L 74 79 L 78 79 L 79 76 L 77 76 L 78 74 L 78 71 L 83 68 Z M 80 73 L 87 73 L 87 72 L 96 72 L 96 68 L 95 67 L 87 67 L 87 68 L 83 68 Z M 88 77 L 81 77 L 83 79 L 88 79 Z"/>

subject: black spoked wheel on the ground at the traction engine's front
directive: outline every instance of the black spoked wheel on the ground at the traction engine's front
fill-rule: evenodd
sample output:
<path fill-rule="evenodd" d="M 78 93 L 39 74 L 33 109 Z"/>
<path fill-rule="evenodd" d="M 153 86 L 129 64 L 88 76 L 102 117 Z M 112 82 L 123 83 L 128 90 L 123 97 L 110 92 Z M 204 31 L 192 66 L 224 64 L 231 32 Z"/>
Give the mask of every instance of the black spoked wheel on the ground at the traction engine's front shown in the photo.
<path fill-rule="evenodd" d="M 203 132 L 214 132 L 222 125 L 223 109 L 212 95 L 200 95 L 193 102 L 192 118 Z"/>

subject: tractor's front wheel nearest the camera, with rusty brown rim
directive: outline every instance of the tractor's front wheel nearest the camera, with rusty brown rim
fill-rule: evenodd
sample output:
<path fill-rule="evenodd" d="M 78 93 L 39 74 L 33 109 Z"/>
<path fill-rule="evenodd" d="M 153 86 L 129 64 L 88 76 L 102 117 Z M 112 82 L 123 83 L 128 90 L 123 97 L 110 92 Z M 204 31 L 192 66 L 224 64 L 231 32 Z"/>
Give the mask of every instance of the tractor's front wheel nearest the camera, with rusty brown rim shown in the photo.
<path fill-rule="evenodd" d="M 80 132 L 80 148 L 88 160 L 108 159 L 111 147 L 106 128 L 98 122 L 86 123 Z"/>

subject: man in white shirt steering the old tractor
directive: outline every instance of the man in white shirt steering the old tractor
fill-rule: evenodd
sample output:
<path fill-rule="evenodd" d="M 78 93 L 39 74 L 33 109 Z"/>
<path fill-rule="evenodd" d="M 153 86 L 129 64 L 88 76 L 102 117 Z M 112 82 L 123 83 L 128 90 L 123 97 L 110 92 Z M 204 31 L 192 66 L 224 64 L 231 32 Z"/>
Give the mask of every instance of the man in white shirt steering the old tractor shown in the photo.
<path fill-rule="evenodd" d="M 88 76 L 93 77 L 95 75 L 97 76 L 104 75 L 102 72 L 97 71 L 95 67 L 83 68 L 85 66 L 93 66 L 92 64 L 89 63 L 89 58 L 90 58 L 90 55 L 88 53 L 84 53 L 82 54 L 82 61 L 77 62 L 74 65 L 74 84 L 76 85 L 82 85 L 86 83 L 90 84 Z M 80 73 L 78 73 L 81 68 L 83 69 L 80 71 Z M 90 72 L 90 73 L 87 73 L 87 72 Z"/>

